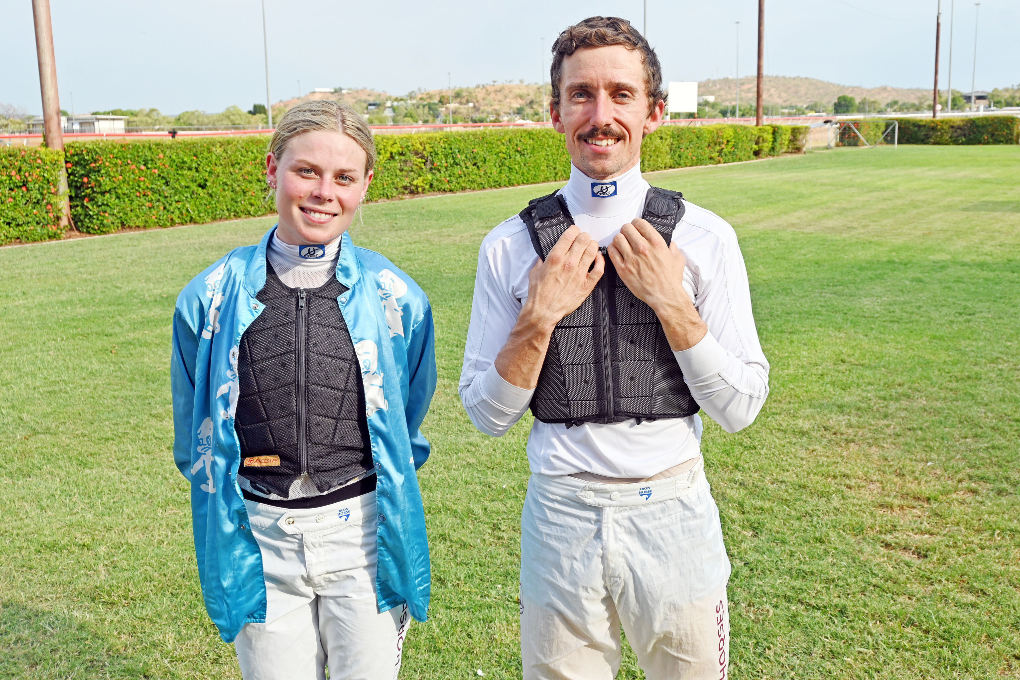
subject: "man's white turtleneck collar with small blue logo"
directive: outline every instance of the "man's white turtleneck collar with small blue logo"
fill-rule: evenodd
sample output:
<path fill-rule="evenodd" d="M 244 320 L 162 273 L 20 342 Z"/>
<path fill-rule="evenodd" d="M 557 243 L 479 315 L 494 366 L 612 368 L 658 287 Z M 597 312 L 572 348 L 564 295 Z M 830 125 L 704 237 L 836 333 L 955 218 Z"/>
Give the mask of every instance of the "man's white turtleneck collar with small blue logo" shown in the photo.
<path fill-rule="evenodd" d="M 641 163 L 613 179 L 593 179 L 570 165 L 570 179 L 560 190 L 574 223 L 591 233 L 600 246 L 608 246 L 620 227 L 645 209 L 650 185 L 641 174 Z"/>

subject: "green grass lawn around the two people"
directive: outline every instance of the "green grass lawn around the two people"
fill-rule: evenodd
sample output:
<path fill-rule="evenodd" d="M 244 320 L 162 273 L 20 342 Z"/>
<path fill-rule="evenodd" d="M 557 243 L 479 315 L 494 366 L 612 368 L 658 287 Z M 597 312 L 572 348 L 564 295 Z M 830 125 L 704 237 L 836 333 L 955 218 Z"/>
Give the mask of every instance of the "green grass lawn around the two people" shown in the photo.
<path fill-rule="evenodd" d="M 704 451 L 734 678 L 1020 678 L 1020 147 L 839 149 L 666 171 L 736 228 L 772 364 Z M 369 205 L 431 298 L 429 621 L 403 678 L 518 678 L 528 422 L 457 379 L 478 244 L 550 187 Z M 237 678 L 173 467 L 170 318 L 251 219 L 0 250 L 0 677 Z M 642 677 L 627 658 L 622 677 Z"/>

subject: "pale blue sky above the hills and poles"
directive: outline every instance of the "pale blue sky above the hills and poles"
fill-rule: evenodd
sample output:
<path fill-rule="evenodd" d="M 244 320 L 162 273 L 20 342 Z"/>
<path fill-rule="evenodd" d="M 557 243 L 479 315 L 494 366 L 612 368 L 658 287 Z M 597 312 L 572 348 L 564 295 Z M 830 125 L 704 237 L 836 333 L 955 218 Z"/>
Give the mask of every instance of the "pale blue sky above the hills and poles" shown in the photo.
<path fill-rule="evenodd" d="M 51 0 L 60 102 L 78 112 L 154 106 L 249 108 L 265 100 L 258 0 Z M 766 72 L 843 85 L 931 87 L 936 0 L 767 0 Z M 538 82 L 546 49 L 592 14 L 642 24 L 642 1 L 510 0 L 443 3 L 266 0 L 273 101 L 317 87 L 415 88 L 493 80 Z M 942 1 L 942 79 L 950 0 Z M 1020 2 L 980 8 L 977 89 L 1020 82 Z M 754 72 L 756 0 L 649 0 L 649 39 L 667 81 Z M 41 110 L 32 7 L 0 0 L 0 102 Z M 974 3 L 956 1 L 953 85 L 969 89 Z M 546 62 L 548 73 L 548 56 Z"/>

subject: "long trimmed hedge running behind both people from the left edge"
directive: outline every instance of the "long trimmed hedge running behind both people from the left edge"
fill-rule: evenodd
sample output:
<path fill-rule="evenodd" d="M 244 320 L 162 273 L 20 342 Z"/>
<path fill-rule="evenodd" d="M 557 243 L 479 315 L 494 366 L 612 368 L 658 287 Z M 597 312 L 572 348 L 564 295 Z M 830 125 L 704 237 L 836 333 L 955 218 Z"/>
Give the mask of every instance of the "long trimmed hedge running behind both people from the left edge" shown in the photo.
<path fill-rule="evenodd" d="M 787 125 L 664 125 L 642 145 L 642 167 L 651 171 L 778 156 L 803 151 L 805 139 L 800 128 Z M 68 144 L 71 217 L 81 231 L 109 233 L 124 227 L 271 213 L 275 206 L 266 201 L 264 169 L 267 142 L 264 136 L 253 136 Z M 570 175 L 563 136 L 549 128 L 379 135 L 375 146 L 378 163 L 369 201 L 531 185 Z M 22 176 L 21 169 L 30 165 L 34 168 L 36 174 L 26 175 L 36 182 L 32 191 L 55 186 L 64 160 L 45 149 L 0 154 L 11 163 L 9 178 Z M 0 204 L 0 244 L 61 236 L 49 229 L 56 222 L 40 210 L 54 204 L 42 194 L 29 194 L 30 185 L 24 186 L 17 201 Z M 20 187 L 0 184 L 15 195 Z"/>

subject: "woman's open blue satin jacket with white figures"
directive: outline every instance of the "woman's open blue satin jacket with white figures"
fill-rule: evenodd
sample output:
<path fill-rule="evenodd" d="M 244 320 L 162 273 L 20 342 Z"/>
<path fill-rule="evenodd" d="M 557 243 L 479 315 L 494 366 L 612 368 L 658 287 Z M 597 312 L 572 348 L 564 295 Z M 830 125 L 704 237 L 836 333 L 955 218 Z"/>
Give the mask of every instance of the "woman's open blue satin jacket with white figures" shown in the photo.
<path fill-rule="evenodd" d="M 238 486 L 241 447 L 234 431 L 238 347 L 264 305 L 265 251 L 237 248 L 196 276 L 173 314 L 170 385 L 173 461 L 191 481 L 192 523 L 202 595 L 223 640 L 265 621 L 262 557 Z M 337 299 L 361 363 L 368 434 L 378 477 L 380 611 L 406 603 L 424 621 L 431 582 L 425 516 L 416 470 L 428 458 L 419 431 L 436 390 L 435 327 L 428 298 L 388 259 L 343 236 Z"/>

